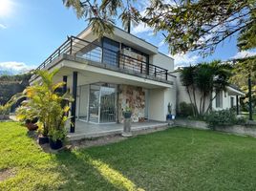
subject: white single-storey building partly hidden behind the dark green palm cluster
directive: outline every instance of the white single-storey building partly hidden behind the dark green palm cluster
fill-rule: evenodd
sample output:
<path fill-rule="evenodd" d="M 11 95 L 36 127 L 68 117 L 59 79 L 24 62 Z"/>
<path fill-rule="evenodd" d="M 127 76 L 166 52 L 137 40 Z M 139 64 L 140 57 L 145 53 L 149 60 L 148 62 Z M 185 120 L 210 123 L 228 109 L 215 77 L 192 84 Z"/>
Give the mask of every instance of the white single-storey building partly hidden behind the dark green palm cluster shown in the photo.
<path fill-rule="evenodd" d="M 181 83 L 181 74 L 180 73 L 174 73 L 174 75 L 177 76 L 176 80 L 176 86 L 177 86 L 177 108 L 178 112 L 180 111 L 180 103 L 186 102 L 190 103 L 188 93 L 186 92 L 185 86 Z M 238 90 L 234 86 L 227 86 L 225 91 L 222 91 L 218 93 L 216 96 L 216 92 L 213 92 L 211 97 L 215 97 L 212 100 L 212 110 L 224 110 L 224 109 L 230 109 L 233 107 L 239 106 L 239 99 L 241 96 L 245 96 L 245 93 Z M 200 108 L 200 93 L 196 92 L 196 102 L 198 105 L 198 108 Z M 205 105 L 209 105 L 210 102 L 210 96 L 206 98 Z M 205 108 L 206 110 L 206 108 Z M 238 107 L 237 107 L 238 110 Z"/>

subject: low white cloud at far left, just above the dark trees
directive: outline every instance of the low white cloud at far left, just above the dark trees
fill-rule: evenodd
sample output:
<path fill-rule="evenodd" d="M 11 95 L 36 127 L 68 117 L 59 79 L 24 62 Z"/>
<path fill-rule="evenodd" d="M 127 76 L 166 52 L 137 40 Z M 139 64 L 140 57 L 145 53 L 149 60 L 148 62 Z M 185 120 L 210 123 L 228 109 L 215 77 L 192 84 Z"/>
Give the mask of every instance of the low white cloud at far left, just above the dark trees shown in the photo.
<path fill-rule="evenodd" d="M 23 62 L 0 62 L 0 71 L 10 72 L 11 74 L 26 73 L 34 68 L 35 66 L 29 66 Z"/>

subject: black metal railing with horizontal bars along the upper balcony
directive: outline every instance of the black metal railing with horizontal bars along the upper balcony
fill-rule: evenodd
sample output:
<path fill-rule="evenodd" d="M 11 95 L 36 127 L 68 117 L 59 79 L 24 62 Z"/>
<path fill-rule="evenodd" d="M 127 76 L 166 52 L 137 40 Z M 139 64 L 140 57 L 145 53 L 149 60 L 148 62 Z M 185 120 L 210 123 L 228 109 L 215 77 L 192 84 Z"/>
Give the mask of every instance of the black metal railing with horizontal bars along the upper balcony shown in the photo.
<path fill-rule="evenodd" d="M 68 37 L 36 70 L 46 68 L 47 65 L 62 54 L 75 55 L 86 60 L 99 62 L 102 65 L 117 67 L 135 74 L 146 74 L 163 80 L 169 80 L 174 77 L 168 74 L 166 69 L 146 63 L 142 60 L 142 57 L 137 59 L 124 53 L 114 52 L 110 49 L 102 48 L 99 43 L 88 42 L 75 36 Z"/>

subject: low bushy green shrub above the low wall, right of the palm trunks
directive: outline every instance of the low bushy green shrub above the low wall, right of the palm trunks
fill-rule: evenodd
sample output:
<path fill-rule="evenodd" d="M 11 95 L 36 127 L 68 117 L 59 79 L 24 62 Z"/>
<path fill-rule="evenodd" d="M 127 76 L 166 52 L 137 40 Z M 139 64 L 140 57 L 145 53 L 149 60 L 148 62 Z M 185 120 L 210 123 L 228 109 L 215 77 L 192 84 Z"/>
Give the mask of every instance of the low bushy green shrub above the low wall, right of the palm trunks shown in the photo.
<path fill-rule="evenodd" d="M 205 116 L 205 121 L 209 127 L 215 129 L 217 126 L 228 126 L 245 123 L 244 117 L 237 117 L 232 109 L 212 111 Z"/>

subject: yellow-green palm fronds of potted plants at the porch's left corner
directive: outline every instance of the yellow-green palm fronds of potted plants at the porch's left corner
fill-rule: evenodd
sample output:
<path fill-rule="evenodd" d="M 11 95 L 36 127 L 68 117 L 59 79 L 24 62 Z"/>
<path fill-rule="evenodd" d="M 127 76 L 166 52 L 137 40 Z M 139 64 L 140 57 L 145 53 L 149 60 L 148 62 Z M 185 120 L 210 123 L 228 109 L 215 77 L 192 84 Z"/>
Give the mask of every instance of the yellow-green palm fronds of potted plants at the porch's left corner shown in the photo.
<path fill-rule="evenodd" d="M 68 119 L 68 102 L 73 98 L 68 93 L 60 95 L 56 93 L 58 88 L 64 85 L 64 82 L 53 83 L 53 76 L 58 70 L 52 73 L 47 71 L 38 71 L 41 77 L 39 82 L 27 87 L 18 98 L 26 97 L 28 100 L 22 102 L 22 106 L 17 110 L 17 118 L 20 120 L 33 119 L 38 117 L 37 125 L 44 136 L 50 136 L 53 140 L 56 138 L 65 138 L 65 122 Z M 13 99 L 17 99 L 14 96 Z M 63 103 L 65 102 L 65 106 Z"/>

